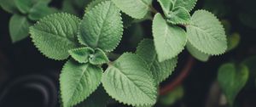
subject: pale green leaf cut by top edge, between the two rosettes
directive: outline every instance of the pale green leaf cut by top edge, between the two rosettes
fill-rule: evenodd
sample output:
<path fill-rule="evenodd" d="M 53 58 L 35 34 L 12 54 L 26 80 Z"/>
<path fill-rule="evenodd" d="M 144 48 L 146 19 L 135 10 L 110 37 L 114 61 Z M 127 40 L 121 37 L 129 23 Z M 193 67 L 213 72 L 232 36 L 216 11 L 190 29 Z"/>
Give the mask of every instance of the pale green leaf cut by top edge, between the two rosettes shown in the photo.
<path fill-rule="evenodd" d="M 125 14 L 132 18 L 143 19 L 148 13 L 152 0 L 112 0 Z"/>

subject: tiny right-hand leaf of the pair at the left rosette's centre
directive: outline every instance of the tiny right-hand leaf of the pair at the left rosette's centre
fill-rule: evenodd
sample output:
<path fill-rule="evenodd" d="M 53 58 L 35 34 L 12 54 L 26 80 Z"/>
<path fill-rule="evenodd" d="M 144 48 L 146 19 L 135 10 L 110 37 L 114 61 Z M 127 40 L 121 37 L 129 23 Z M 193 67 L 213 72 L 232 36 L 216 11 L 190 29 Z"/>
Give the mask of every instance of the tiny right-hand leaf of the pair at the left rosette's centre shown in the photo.
<path fill-rule="evenodd" d="M 90 64 L 92 65 L 102 65 L 108 63 L 107 55 L 100 48 L 96 48 L 94 54 L 90 55 Z"/>

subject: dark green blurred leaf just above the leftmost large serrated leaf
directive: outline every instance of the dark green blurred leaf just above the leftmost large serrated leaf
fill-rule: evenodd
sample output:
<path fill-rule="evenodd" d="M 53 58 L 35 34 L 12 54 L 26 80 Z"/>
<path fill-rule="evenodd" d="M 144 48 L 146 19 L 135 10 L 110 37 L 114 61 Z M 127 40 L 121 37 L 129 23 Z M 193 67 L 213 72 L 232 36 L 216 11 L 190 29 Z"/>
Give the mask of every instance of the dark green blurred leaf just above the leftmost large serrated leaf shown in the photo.
<path fill-rule="evenodd" d="M 47 2 L 38 2 L 29 10 L 28 18 L 30 20 L 39 20 L 46 15 L 57 12 L 56 8 L 49 8 Z"/>

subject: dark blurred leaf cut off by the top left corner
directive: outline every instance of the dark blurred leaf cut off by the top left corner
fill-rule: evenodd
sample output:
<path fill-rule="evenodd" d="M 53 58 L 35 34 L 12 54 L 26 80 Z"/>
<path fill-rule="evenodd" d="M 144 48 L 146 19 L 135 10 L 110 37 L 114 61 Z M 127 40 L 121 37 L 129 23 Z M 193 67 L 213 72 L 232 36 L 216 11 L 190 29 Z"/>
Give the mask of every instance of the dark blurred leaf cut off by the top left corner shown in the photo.
<path fill-rule="evenodd" d="M 0 6 L 11 14 L 17 13 L 17 7 L 15 6 L 14 0 L 0 0 Z"/>

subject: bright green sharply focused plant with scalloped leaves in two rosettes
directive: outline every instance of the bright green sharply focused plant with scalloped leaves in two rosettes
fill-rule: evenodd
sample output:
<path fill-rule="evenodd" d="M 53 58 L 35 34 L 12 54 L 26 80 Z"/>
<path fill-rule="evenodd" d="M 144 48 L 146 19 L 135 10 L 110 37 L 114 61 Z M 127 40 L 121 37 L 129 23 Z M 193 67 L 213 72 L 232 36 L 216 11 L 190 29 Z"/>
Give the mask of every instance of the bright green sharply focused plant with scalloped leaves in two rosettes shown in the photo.
<path fill-rule="evenodd" d="M 130 106 L 154 106 L 160 82 L 172 74 L 184 48 L 201 61 L 227 49 L 224 27 L 213 14 L 190 14 L 196 0 L 158 0 L 163 13 L 152 2 L 95 0 L 82 19 L 50 14 L 30 27 L 32 42 L 44 56 L 67 60 L 60 75 L 62 106 L 104 107 L 108 98 Z M 137 20 L 154 17 L 153 39 L 143 39 L 134 53 L 110 59 L 125 31 L 123 13 Z"/>

